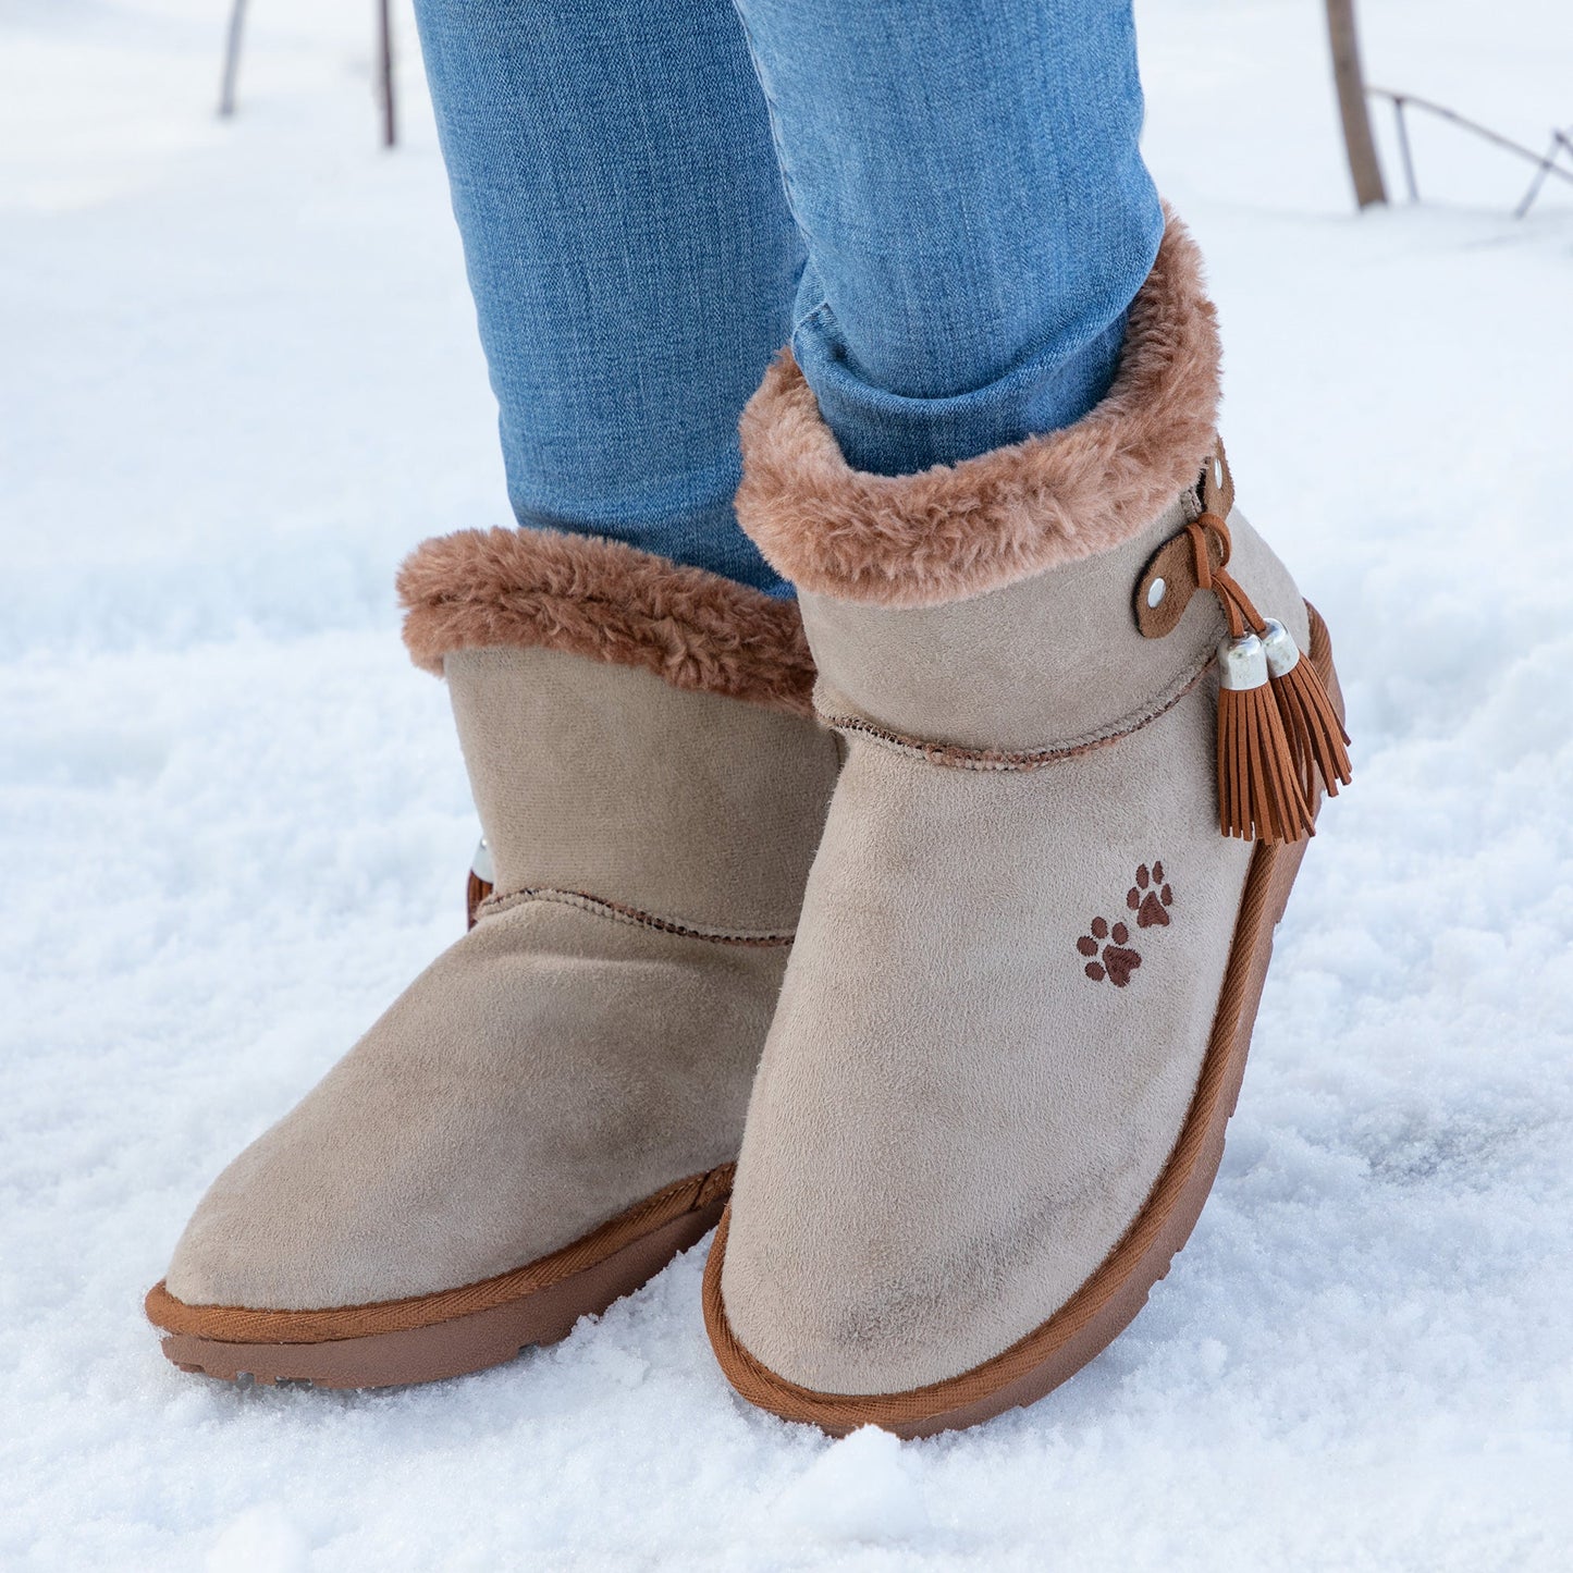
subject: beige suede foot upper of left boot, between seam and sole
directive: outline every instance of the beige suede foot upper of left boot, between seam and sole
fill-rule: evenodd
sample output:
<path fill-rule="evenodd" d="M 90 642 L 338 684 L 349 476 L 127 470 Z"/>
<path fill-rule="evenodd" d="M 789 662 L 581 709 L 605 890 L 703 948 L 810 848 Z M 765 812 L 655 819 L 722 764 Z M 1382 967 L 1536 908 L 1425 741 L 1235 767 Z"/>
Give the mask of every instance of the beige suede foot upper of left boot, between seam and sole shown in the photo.
<path fill-rule="evenodd" d="M 437 1293 L 730 1162 L 777 955 L 554 903 L 486 919 L 214 1181 L 168 1293 L 256 1310 Z"/>

